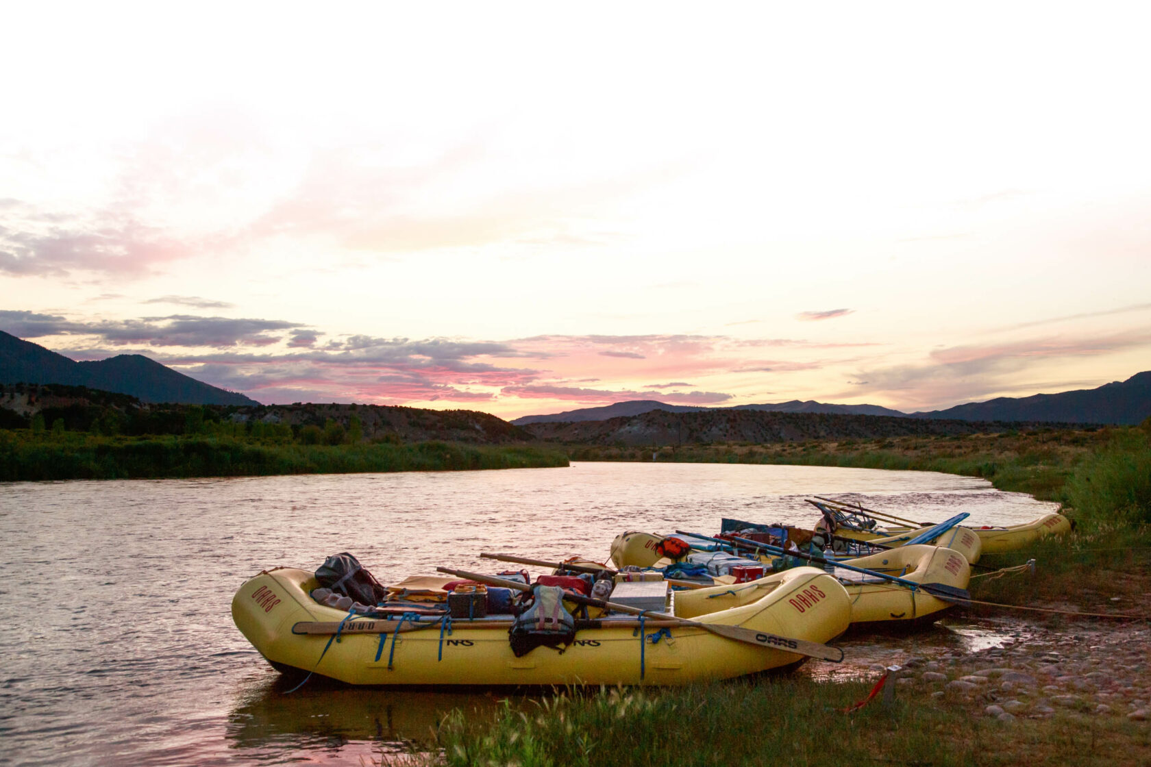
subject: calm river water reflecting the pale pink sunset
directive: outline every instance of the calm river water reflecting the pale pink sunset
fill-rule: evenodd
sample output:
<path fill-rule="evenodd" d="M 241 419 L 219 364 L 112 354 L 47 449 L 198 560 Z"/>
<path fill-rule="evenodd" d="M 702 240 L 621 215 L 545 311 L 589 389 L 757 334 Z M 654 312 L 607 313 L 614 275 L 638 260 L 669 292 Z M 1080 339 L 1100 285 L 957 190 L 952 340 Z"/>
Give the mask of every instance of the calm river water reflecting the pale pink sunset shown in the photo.
<path fill-rule="evenodd" d="M 285 696 L 231 622 L 246 577 L 340 551 L 383 583 L 436 565 L 503 569 L 481 551 L 603 560 L 625 529 L 814 523 L 803 498 L 843 493 L 914 519 L 966 511 L 968 523 L 1052 508 L 981 480 L 799 466 L 2 484 L 0 764 L 359 764 L 497 698 L 314 681 Z"/>

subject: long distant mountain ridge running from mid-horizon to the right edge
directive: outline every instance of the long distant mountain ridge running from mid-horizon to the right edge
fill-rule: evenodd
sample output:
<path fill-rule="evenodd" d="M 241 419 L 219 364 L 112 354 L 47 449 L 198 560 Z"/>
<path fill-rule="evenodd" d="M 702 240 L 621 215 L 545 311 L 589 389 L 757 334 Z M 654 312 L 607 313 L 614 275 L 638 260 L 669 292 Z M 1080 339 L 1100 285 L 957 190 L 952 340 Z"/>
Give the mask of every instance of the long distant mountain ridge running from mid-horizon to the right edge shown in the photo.
<path fill-rule="evenodd" d="M 585 407 L 549 415 L 525 415 L 511 423 L 580 423 L 631 417 L 653 411 L 668 413 L 723 413 L 727 411 L 762 411 L 769 413 L 822 413 L 839 415 L 886 415 L 904 419 L 945 419 L 954 421 L 1028 421 L 1058 423 L 1116 423 L 1131 425 L 1151 416 L 1151 371 L 1137 373 L 1127 381 L 1104 384 L 1097 389 L 1080 389 L 1058 394 L 1031 397 L 997 397 L 985 402 L 968 402 L 944 411 L 904 413 L 878 405 L 834 405 L 800 401 L 775 405 L 737 405 L 702 407 L 666 405 L 654 399 L 635 399 L 603 407 Z"/>

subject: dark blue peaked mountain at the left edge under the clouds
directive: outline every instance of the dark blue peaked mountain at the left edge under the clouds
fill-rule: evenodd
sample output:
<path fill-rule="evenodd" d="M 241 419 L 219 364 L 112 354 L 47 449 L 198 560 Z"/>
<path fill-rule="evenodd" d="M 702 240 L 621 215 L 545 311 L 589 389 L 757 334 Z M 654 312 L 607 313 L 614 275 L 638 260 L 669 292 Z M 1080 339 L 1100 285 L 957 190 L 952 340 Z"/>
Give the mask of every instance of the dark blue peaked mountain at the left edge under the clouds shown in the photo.
<path fill-rule="evenodd" d="M 0 383 L 68 384 L 131 394 L 145 402 L 259 405 L 208 385 L 139 354 L 76 362 L 38 344 L 0 331 Z"/>

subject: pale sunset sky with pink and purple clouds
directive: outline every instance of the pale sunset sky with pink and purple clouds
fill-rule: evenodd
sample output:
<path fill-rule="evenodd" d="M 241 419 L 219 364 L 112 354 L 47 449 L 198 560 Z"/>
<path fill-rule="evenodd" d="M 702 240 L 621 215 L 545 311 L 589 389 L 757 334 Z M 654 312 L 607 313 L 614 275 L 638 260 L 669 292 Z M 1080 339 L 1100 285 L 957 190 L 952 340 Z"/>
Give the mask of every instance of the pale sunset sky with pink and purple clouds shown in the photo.
<path fill-rule="evenodd" d="M 1151 369 L 1145 3 L 9 3 L 0 330 L 265 404 Z"/>

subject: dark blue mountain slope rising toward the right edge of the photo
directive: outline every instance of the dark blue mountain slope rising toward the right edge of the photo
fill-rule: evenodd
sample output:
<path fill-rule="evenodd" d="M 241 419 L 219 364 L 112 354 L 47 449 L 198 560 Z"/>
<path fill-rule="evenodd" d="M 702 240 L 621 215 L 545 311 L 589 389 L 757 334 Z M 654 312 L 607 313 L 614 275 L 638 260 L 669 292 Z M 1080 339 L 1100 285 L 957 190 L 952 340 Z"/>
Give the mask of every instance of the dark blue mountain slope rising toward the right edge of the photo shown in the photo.
<path fill-rule="evenodd" d="M 1059 394 L 997 397 L 985 402 L 956 405 L 946 411 L 913 413 L 915 419 L 961 421 L 1064 421 L 1067 423 L 1139 423 L 1151 416 L 1151 370 L 1098 389 Z"/>

